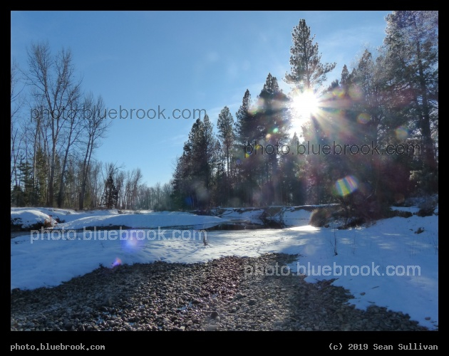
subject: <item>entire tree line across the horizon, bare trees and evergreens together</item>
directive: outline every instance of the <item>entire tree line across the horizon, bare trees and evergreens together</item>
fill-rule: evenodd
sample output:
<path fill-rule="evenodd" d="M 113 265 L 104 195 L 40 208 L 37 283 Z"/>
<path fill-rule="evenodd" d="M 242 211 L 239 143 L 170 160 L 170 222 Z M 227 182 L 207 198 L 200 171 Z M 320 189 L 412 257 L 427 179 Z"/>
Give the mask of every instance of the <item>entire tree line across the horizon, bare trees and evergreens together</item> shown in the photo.
<path fill-rule="evenodd" d="M 33 44 L 26 70 L 11 65 L 11 206 L 193 210 L 343 202 L 378 211 L 438 192 L 438 11 L 393 11 L 383 46 L 366 48 L 327 88 L 336 63 L 321 63 L 304 19 L 291 38 L 290 71 L 282 78 L 291 92 L 268 73 L 257 96 L 245 91 L 237 112 L 224 106 L 216 127 L 208 115 L 197 119 L 172 179 L 155 187 L 142 184 L 138 168 L 125 172 L 95 159 L 108 132 L 103 99 L 82 93 L 70 51 L 53 55 L 48 43 Z M 24 85 L 31 88 L 25 98 Z M 299 114 L 295 100 L 306 93 L 318 98 L 319 110 Z M 24 120 L 24 107 L 34 109 L 32 120 Z M 81 120 L 86 108 L 92 115 Z M 299 119 L 301 130 L 291 132 Z M 336 145 L 349 152 L 325 153 Z M 389 155 L 388 145 L 401 150 Z M 305 147 L 321 154 L 300 155 Z"/>

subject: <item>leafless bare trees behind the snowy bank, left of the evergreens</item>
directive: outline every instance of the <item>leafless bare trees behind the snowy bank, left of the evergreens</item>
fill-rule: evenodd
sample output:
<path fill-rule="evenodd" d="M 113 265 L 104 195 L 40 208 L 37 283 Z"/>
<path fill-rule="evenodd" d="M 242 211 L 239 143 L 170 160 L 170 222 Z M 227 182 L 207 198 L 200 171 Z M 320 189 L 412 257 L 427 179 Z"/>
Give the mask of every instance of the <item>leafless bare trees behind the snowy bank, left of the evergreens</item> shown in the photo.
<path fill-rule="evenodd" d="M 110 121 L 71 51 L 33 43 L 27 64 L 11 62 L 11 206 L 170 209 L 170 184 L 147 187 L 139 168 L 95 159 Z"/>

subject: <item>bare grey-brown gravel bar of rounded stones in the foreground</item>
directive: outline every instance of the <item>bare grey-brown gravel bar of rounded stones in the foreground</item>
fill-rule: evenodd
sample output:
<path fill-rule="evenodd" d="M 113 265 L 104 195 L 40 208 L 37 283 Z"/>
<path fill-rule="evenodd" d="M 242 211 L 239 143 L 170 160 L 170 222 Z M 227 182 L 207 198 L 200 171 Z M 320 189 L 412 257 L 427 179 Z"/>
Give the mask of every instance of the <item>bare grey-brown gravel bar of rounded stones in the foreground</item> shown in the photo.
<path fill-rule="evenodd" d="M 248 273 L 296 258 L 269 253 L 207 263 L 100 266 L 53 288 L 12 290 L 11 330 L 428 330 L 383 307 L 356 309 L 348 303 L 351 293 L 332 281 Z"/>

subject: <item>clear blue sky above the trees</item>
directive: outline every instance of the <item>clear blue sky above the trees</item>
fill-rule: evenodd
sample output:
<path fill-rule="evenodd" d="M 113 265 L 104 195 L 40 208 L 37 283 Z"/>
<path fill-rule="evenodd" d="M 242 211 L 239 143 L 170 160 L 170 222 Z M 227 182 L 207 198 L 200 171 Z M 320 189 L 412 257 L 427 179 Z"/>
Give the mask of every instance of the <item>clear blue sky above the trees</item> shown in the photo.
<path fill-rule="evenodd" d="M 316 35 L 321 62 L 336 62 L 330 83 L 344 64 L 353 68 L 364 48 L 381 46 L 390 13 L 12 11 L 11 60 L 26 68 L 33 42 L 48 41 L 54 53 L 71 48 L 83 90 L 101 95 L 108 110 L 128 112 L 125 120 L 113 120 L 96 159 L 125 170 L 139 167 L 143 182 L 153 186 L 172 178 L 194 109 L 206 110 L 214 124 L 224 106 L 235 116 L 245 90 L 257 98 L 268 73 L 289 92 L 282 78 L 290 70 L 291 31 L 300 19 Z M 170 119 L 148 119 L 152 109 Z M 190 117 L 175 120 L 172 115 L 182 110 Z"/>

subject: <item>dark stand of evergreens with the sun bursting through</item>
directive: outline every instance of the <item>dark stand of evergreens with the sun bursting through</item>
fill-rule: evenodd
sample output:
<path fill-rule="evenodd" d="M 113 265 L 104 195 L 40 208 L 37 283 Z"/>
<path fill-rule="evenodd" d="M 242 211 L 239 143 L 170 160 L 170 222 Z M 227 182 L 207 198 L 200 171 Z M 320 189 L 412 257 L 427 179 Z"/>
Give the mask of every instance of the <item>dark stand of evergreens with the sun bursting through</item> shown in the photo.
<path fill-rule="evenodd" d="M 192 125 L 173 173 L 175 209 L 342 202 L 379 212 L 438 192 L 438 11 L 393 11 L 383 46 L 328 88 L 336 64 L 321 63 L 314 39 L 301 19 L 282 78 L 291 93 L 269 73 L 255 100 L 246 90 L 234 115 L 221 110 L 216 134 L 207 115 Z M 305 93 L 319 96 L 319 110 L 291 135 Z M 328 154 L 299 155 L 306 145 Z M 329 154 L 335 145 L 351 151 Z"/>

